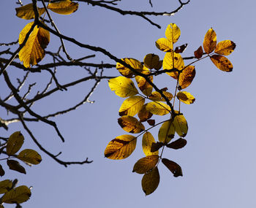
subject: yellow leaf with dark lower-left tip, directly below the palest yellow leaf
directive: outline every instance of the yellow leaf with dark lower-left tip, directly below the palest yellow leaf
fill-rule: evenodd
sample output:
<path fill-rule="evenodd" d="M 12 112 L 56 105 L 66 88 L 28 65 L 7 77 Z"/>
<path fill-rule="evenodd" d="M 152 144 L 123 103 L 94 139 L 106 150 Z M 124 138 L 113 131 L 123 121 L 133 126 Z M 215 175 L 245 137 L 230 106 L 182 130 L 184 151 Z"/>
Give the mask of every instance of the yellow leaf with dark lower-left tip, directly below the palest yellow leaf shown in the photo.
<path fill-rule="evenodd" d="M 129 99 L 126 99 L 119 109 L 119 115 L 136 115 L 141 107 L 143 107 L 143 104 L 145 102 L 145 99 L 141 96 L 132 96 Z"/>

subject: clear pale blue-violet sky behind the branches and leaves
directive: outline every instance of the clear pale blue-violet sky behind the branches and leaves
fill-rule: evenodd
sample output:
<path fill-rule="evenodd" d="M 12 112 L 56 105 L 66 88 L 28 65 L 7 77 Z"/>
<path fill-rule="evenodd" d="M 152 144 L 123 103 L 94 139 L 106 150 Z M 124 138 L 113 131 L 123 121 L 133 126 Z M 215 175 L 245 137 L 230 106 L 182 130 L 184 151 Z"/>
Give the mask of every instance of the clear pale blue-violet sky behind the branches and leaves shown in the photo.
<path fill-rule="evenodd" d="M 122 0 L 121 8 L 151 10 L 148 1 Z M 30 1 L 23 1 L 29 4 Z M 156 11 L 176 9 L 178 1 L 152 0 Z M 0 7 L 0 42 L 12 42 L 29 20 L 15 16 L 15 1 L 2 0 Z M 9 131 L 0 128 L 1 136 L 10 136 L 21 131 L 25 136 L 23 148 L 32 148 L 42 155 L 38 166 L 26 167 L 23 175 L 7 169 L 1 180 L 19 179 L 19 185 L 33 186 L 32 196 L 23 207 L 255 207 L 255 7 L 256 2 L 191 0 L 172 17 L 151 18 L 161 29 L 151 26 L 146 20 L 99 7 L 80 4 L 72 15 L 53 14 L 53 20 L 62 34 L 80 42 L 104 47 L 118 58 L 132 57 L 143 61 L 147 53 L 163 58 L 165 53 L 155 47 L 155 41 L 165 37 L 165 28 L 176 23 L 181 29 L 177 46 L 188 43 L 184 57 L 203 45 L 209 28 L 217 33 L 217 42 L 230 39 L 236 50 L 227 58 L 233 63 L 233 72 L 222 72 L 209 59 L 195 64 L 196 77 L 186 90 L 195 96 L 195 103 L 181 104 L 189 125 L 187 146 L 181 150 L 167 150 L 165 158 L 176 161 L 183 170 L 183 177 L 174 178 L 165 166 L 159 164 L 160 183 L 157 190 L 145 196 L 141 189 L 142 175 L 132 173 L 133 165 L 144 157 L 141 137 L 137 148 L 129 158 L 112 161 L 104 158 L 104 150 L 110 140 L 127 134 L 116 120 L 118 109 L 124 99 L 116 96 L 102 81 L 91 96 L 94 104 L 84 104 L 74 112 L 54 118 L 66 142 L 61 143 L 53 128 L 42 123 L 29 123 L 37 139 L 52 153 L 62 152 L 64 161 L 82 161 L 88 157 L 93 163 L 65 168 L 48 155 L 40 152 L 31 142 L 20 123 L 9 126 Z M 59 48 L 59 39 L 51 35 L 48 50 Z M 66 42 L 70 55 L 80 58 L 93 52 L 80 49 Z M 14 47 L 16 48 L 16 47 Z M 113 63 L 101 54 L 97 63 Z M 45 63 L 42 61 L 42 63 Z M 186 61 L 185 64 L 188 64 Z M 7 68 L 12 80 L 20 72 Z M 74 72 L 75 71 L 75 72 Z M 105 74 L 118 76 L 116 69 L 105 69 Z M 42 86 L 48 74 L 32 74 L 29 82 Z M 86 76 L 75 67 L 62 67 L 57 76 L 61 83 Z M 166 74 L 156 77 L 159 88 L 167 87 L 174 93 L 175 81 Z M 83 99 L 93 82 L 69 88 L 44 99 L 34 109 L 42 113 L 71 107 Z M 7 88 L 0 77 L 0 96 Z M 26 89 L 26 88 L 25 88 Z M 36 90 L 35 90 L 36 91 Z M 0 109 L 1 117 L 6 115 Z M 157 139 L 159 128 L 151 133 Z M 14 207 L 5 205 L 5 207 Z"/>

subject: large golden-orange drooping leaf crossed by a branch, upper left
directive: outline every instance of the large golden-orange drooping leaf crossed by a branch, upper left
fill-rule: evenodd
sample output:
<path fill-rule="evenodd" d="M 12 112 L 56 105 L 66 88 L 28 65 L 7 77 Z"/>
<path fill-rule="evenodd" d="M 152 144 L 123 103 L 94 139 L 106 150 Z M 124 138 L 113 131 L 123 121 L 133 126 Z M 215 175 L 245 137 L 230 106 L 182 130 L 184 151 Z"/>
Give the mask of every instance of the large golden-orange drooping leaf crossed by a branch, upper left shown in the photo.
<path fill-rule="evenodd" d="M 23 28 L 19 36 L 19 44 L 23 43 L 23 40 L 26 37 L 26 34 L 29 32 L 32 23 L 29 23 Z M 23 61 L 23 65 L 26 68 L 29 68 L 30 65 L 36 65 L 42 58 L 45 57 L 45 47 L 47 47 L 50 42 L 50 33 L 44 28 L 38 26 L 34 27 L 34 30 L 31 32 L 26 45 L 20 50 L 19 58 L 20 61 Z"/>

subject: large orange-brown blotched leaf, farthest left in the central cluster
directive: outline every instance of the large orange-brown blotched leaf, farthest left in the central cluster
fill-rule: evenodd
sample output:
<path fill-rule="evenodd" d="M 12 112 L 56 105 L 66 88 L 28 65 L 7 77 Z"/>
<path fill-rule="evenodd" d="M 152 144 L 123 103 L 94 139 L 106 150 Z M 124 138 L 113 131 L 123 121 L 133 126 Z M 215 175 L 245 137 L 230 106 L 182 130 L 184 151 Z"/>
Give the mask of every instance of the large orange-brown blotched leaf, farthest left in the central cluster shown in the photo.
<path fill-rule="evenodd" d="M 137 138 L 131 135 L 116 136 L 105 149 L 105 157 L 112 160 L 121 160 L 129 157 L 135 150 Z"/>

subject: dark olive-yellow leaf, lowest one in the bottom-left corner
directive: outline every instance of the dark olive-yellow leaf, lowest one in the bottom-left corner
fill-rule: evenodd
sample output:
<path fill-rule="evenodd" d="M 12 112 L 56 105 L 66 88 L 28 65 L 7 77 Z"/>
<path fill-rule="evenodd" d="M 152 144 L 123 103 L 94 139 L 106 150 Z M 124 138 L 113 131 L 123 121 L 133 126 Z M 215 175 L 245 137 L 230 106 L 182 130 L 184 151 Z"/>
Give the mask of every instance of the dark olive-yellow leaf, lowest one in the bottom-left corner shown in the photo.
<path fill-rule="evenodd" d="M 7 204 L 21 204 L 28 201 L 31 196 L 31 191 L 26 185 L 20 185 L 4 194 L 1 201 Z"/>

